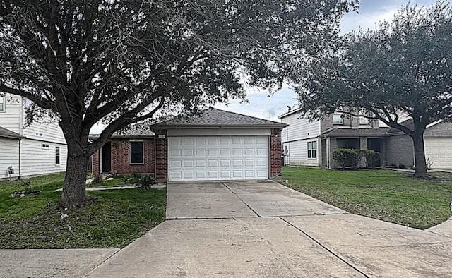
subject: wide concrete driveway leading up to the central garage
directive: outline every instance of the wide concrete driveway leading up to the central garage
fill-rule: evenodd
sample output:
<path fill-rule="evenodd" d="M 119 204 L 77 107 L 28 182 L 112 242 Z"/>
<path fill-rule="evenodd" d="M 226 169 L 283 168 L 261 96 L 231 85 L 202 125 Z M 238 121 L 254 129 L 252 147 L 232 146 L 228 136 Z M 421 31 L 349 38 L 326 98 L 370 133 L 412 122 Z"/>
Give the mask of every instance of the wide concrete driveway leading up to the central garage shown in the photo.
<path fill-rule="evenodd" d="M 167 219 L 87 277 L 452 277 L 452 237 L 273 181 L 169 183 Z"/>

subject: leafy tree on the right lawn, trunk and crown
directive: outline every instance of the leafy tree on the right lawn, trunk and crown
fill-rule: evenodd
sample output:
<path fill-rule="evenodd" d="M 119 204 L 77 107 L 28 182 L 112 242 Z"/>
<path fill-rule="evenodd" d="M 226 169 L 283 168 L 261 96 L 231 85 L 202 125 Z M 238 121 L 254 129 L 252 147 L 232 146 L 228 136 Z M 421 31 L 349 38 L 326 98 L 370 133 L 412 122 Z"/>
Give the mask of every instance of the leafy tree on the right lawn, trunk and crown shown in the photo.
<path fill-rule="evenodd" d="M 398 128 L 413 140 L 415 176 L 425 176 L 424 131 L 452 114 L 451 45 L 448 2 L 406 6 L 392 23 L 345 35 L 336 51 L 297 73 L 299 104 L 314 118 L 343 111 Z M 412 128 L 400 124 L 402 115 L 412 118 Z"/>

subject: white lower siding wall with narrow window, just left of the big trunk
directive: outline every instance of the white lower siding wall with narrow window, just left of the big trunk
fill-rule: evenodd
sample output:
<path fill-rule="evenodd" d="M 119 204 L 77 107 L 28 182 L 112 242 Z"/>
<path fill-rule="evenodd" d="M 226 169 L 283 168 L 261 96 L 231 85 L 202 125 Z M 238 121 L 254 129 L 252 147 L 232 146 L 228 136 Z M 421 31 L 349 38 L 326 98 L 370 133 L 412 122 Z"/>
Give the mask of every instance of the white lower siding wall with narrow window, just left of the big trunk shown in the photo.
<path fill-rule="evenodd" d="M 42 144 L 48 144 L 43 148 Z M 23 139 L 21 144 L 20 175 L 31 176 L 66 171 L 67 147 L 39 140 Z M 60 164 L 55 164 L 55 147 L 60 147 Z"/>

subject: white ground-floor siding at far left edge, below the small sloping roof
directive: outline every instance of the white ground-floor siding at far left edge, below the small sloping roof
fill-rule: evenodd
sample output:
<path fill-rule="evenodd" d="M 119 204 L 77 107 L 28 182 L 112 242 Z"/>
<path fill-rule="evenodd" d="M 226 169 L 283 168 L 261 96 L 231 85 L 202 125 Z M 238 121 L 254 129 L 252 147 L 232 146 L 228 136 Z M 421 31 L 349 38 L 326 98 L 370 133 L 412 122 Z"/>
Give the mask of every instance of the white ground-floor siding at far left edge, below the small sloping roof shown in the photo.
<path fill-rule="evenodd" d="M 14 174 L 19 176 L 19 140 L 0 138 L 0 179 L 8 178 L 8 167 L 12 166 Z"/>

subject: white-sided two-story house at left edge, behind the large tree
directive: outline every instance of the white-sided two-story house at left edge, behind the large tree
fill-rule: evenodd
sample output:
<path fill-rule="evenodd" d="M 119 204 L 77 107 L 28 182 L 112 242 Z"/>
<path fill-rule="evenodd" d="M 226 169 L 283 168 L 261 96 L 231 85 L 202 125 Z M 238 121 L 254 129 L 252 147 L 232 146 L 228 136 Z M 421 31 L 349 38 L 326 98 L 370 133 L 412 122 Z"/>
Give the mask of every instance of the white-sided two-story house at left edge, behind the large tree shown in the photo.
<path fill-rule="evenodd" d="M 67 145 L 56 121 L 25 126 L 24 97 L 0 97 L 0 179 L 66 171 Z M 9 169 L 9 170 L 8 170 Z M 13 170 L 11 170 L 13 169 Z"/>

